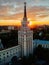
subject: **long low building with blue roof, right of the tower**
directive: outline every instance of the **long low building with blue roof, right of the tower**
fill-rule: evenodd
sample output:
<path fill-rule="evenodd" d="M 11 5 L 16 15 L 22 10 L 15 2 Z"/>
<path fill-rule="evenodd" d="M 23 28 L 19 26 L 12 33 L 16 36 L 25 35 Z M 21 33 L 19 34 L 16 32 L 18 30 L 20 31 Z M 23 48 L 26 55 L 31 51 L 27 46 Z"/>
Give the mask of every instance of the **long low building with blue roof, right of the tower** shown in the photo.
<path fill-rule="evenodd" d="M 33 40 L 33 47 L 36 48 L 38 45 L 42 45 L 43 48 L 49 48 L 49 41 L 46 40 Z"/>

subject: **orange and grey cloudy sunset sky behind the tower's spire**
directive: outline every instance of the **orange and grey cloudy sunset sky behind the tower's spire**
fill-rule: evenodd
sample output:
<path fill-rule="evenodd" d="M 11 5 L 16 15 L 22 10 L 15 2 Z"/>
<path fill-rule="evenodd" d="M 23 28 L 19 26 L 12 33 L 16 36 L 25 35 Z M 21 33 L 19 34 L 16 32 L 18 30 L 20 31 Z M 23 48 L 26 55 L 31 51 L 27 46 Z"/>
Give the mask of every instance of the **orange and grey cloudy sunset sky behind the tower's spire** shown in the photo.
<path fill-rule="evenodd" d="M 30 25 L 49 25 L 49 0 L 0 0 L 0 26 L 21 25 L 24 1 Z"/>

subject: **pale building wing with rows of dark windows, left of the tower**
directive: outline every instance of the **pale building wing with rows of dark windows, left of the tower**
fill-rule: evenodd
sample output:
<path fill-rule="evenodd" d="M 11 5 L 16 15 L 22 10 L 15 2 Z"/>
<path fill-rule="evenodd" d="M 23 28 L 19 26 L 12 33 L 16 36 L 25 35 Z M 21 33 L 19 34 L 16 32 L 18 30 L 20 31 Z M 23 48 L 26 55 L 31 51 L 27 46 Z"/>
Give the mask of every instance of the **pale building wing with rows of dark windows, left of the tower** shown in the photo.
<path fill-rule="evenodd" d="M 0 65 L 10 62 L 13 56 L 20 57 L 20 45 L 0 51 Z"/>

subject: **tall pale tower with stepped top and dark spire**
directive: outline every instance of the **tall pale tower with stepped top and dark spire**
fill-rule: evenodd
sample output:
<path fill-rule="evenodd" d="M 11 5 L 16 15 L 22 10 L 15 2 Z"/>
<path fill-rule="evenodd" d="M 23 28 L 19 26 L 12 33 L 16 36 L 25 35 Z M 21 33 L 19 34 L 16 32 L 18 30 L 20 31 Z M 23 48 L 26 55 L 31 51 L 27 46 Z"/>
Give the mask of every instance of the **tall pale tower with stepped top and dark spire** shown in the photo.
<path fill-rule="evenodd" d="M 33 54 L 33 31 L 27 26 L 26 2 L 24 2 L 24 18 L 22 26 L 18 30 L 18 44 L 21 47 L 21 55 L 29 56 Z"/>

